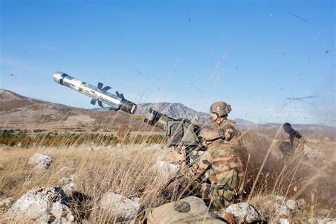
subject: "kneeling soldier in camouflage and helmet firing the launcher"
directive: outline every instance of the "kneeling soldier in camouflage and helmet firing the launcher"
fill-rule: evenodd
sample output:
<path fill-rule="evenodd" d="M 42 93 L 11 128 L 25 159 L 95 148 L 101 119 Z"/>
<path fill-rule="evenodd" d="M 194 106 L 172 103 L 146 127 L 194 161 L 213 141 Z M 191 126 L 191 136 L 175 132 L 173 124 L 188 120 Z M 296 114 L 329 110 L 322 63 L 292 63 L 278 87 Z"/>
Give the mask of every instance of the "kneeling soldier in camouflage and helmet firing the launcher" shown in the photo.
<path fill-rule="evenodd" d="M 211 105 L 210 111 L 215 127 L 206 126 L 200 133 L 206 150 L 192 152 L 189 164 L 184 161 L 181 171 L 189 181 L 201 185 L 203 200 L 223 207 L 225 201 L 232 201 L 242 191 L 241 133 L 237 124 L 228 120 L 230 105 L 216 102 Z M 177 155 L 179 160 L 185 157 L 183 150 Z"/>

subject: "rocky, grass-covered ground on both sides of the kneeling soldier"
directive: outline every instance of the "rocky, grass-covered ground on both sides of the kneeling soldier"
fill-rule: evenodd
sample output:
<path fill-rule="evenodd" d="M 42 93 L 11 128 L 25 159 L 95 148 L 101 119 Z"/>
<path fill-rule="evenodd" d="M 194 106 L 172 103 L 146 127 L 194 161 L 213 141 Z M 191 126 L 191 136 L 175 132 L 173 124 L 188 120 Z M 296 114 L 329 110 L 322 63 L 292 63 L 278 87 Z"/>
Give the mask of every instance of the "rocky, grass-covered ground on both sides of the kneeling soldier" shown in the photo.
<path fill-rule="evenodd" d="M 246 177 L 252 182 L 267 154 L 264 150 L 272 149 L 272 142 L 266 135 L 247 133 L 250 159 Z M 318 149 L 321 144 L 325 151 Z M 253 192 L 248 191 L 247 181 L 245 196 L 211 212 L 230 223 L 335 222 L 335 176 L 331 176 L 335 161 L 325 157 L 335 145 L 318 145 L 310 142 L 306 147 L 303 167 L 291 166 L 279 159 L 278 151 L 271 150 Z M 178 169 L 169 149 L 162 145 L 0 150 L 1 222 L 128 222 L 179 196 L 177 186 L 162 195 L 163 184 Z M 323 162 L 315 167 L 323 169 L 323 174 L 317 170 L 305 173 L 309 167 L 303 162 Z M 319 181 L 324 181 L 323 189 L 315 184 Z"/>

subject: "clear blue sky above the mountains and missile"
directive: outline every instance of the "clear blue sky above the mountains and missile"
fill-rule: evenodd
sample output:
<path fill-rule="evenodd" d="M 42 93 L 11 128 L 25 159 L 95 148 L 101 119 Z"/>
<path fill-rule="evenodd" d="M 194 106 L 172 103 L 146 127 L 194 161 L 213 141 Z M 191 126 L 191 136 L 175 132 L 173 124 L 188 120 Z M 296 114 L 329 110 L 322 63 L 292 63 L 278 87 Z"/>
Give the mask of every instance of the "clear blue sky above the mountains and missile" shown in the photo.
<path fill-rule="evenodd" d="M 91 108 L 56 71 L 135 103 L 335 126 L 335 1 L 2 0 L 0 87 Z"/>

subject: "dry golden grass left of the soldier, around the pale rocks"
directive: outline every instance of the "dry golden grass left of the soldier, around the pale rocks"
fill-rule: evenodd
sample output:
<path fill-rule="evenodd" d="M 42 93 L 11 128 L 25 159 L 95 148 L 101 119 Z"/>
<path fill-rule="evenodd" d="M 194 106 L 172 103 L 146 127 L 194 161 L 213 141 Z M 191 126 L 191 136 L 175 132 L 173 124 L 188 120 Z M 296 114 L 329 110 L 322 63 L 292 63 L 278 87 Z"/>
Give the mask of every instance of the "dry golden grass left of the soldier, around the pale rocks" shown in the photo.
<path fill-rule="evenodd" d="M 174 196 L 163 196 L 160 188 L 167 178 L 161 177 L 152 165 L 158 159 L 169 158 L 168 152 L 144 152 L 143 146 L 91 150 L 91 147 L 21 149 L 2 148 L 0 159 L 0 198 L 20 198 L 28 190 L 38 186 L 62 185 L 60 179 L 74 174 L 76 191 L 88 196 L 89 222 L 111 220 L 108 214 L 99 211 L 99 200 L 106 192 L 115 192 L 128 197 L 140 197 L 143 209 L 159 206 L 171 201 Z M 53 162 L 49 169 L 35 172 L 28 165 L 28 158 L 37 152 L 51 155 Z M 62 167 L 75 167 L 72 171 L 60 173 Z M 177 196 L 175 196 L 177 198 Z M 4 221 L 3 209 L 0 221 Z M 113 217 L 112 217 L 113 219 Z"/>

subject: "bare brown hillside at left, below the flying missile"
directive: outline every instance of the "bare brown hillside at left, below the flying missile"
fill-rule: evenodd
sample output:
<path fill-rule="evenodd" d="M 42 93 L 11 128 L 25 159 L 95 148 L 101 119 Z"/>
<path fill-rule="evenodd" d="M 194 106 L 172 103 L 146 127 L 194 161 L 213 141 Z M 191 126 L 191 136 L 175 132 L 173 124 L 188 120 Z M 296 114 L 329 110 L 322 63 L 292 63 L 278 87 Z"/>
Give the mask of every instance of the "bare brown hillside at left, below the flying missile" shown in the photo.
<path fill-rule="evenodd" d="M 46 130 L 111 130 L 130 124 L 138 130 L 142 116 L 116 111 L 92 111 L 50 103 L 0 89 L 0 128 Z M 146 127 L 145 127 L 146 128 Z M 151 128 L 152 129 L 152 128 Z"/>

